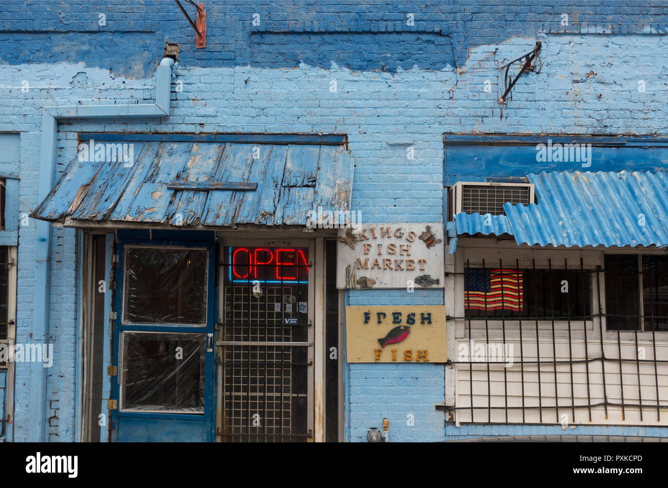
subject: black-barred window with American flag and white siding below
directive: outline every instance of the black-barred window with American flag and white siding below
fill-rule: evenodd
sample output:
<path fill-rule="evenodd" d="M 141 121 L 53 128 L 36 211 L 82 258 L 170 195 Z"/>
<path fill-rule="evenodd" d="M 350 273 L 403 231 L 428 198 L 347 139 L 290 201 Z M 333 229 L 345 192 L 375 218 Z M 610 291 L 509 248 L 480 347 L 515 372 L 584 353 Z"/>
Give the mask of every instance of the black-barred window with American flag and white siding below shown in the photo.
<path fill-rule="evenodd" d="M 464 273 L 455 274 L 464 275 L 465 314 L 453 318 L 464 319 L 469 345 L 478 340 L 486 347 L 482 360 L 471 350 L 466 361 L 451 361 L 458 381 L 462 369 L 468 371 L 468 381 L 459 383 L 462 389 L 468 383 L 468 394 L 458 394 L 468 405 L 454 407 L 462 423 L 492 423 L 492 417 L 509 423 L 518 421 L 518 411 L 522 423 L 592 422 L 596 407 L 606 419 L 614 408 L 622 421 L 632 411 L 639 421 L 647 415 L 662 420 L 661 409 L 668 407 L 668 256 L 606 255 L 605 269 L 585 269 L 581 258 L 564 260 L 562 267 L 550 260 L 546 268 L 535 260 L 529 268 L 518 260 L 469 260 Z M 605 283 L 605 308 L 596 283 Z M 502 351 L 512 341 L 519 344 L 512 367 L 504 367 L 507 357 L 488 354 L 490 338 L 500 339 Z M 557 339 L 567 347 L 558 347 Z"/>

